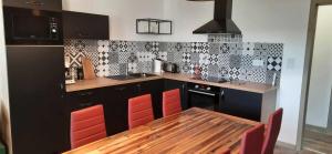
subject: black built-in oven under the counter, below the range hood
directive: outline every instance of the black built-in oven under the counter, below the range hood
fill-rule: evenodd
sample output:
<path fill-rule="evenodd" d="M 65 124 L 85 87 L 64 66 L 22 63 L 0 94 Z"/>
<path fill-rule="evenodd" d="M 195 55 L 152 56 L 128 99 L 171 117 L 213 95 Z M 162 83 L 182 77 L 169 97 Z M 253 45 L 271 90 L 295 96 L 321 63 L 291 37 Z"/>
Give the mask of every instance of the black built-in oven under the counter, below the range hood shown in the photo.
<path fill-rule="evenodd" d="M 188 83 L 187 88 L 189 107 L 219 111 L 219 88 L 196 83 Z"/>

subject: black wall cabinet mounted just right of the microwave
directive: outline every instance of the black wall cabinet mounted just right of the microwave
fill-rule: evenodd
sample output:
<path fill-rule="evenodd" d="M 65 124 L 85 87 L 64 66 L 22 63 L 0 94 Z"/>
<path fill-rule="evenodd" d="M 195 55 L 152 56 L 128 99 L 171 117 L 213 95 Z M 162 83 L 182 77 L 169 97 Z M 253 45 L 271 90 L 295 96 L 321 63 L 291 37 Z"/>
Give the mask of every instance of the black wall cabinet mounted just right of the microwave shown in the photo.
<path fill-rule="evenodd" d="M 64 39 L 110 39 L 108 16 L 63 11 Z"/>

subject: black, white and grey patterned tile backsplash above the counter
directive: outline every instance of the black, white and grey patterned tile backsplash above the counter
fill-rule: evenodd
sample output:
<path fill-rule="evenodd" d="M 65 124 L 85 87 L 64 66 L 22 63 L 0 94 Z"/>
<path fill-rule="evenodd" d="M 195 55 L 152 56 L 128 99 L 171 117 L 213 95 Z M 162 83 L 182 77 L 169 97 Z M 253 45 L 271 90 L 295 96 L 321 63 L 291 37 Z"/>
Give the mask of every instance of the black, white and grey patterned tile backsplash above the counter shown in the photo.
<path fill-rule="evenodd" d="M 226 39 L 225 39 L 226 38 Z M 181 73 L 194 73 L 201 66 L 203 78 L 218 76 L 259 83 L 279 83 L 282 68 L 282 43 L 245 43 L 241 37 L 209 35 L 209 42 L 143 42 L 108 40 L 65 40 L 70 66 L 81 65 L 82 57 L 92 60 L 97 76 L 148 73 L 158 58 L 177 63 Z"/>

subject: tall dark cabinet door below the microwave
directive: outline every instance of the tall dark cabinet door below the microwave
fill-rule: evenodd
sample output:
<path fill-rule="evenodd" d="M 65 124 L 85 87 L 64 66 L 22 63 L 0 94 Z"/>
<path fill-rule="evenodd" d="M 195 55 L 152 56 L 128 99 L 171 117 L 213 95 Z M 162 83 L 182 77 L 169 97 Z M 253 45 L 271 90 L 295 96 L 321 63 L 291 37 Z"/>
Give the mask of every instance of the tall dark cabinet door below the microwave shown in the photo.
<path fill-rule="evenodd" d="M 63 59 L 63 47 L 7 47 L 14 154 L 70 150 Z"/>

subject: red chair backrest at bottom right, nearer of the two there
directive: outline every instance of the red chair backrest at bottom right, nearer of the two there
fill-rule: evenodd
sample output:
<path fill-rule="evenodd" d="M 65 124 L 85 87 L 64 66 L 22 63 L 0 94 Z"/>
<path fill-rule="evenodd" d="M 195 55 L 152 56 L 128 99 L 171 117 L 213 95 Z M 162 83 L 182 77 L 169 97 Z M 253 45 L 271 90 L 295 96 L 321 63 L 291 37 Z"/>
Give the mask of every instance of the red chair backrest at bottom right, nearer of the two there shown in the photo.
<path fill-rule="evenodd" d="M 257 125 L 247 131 L 241 141 L 240 154 L 260 154 L 264 140 L 264 125 Z"/>

